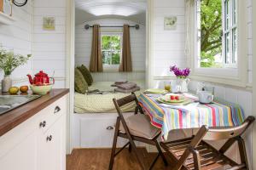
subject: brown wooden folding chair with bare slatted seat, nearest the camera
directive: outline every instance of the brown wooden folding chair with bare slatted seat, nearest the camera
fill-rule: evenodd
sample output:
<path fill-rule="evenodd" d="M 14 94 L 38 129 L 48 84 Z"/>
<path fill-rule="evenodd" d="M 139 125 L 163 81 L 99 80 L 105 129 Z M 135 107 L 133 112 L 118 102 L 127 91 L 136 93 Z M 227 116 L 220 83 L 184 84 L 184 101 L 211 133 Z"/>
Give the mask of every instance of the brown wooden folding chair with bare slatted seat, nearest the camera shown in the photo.
<path fill-rule="evenodd" d="M 174 161 L 173 170 L 179 169 L 248 169 L 247 152 L 241 134 L 254 122 L 253 116 L 248 116 L 239 127 L 208 128 L 202 126 L 194 137 L 181 139 L 160 145 L 166 150 L 167 156 Z M 216 150 L 205 141 L 228 139 Z M 241 163 L 232 161 L 224 153 L 237 141 L 240 151 Z"/>

